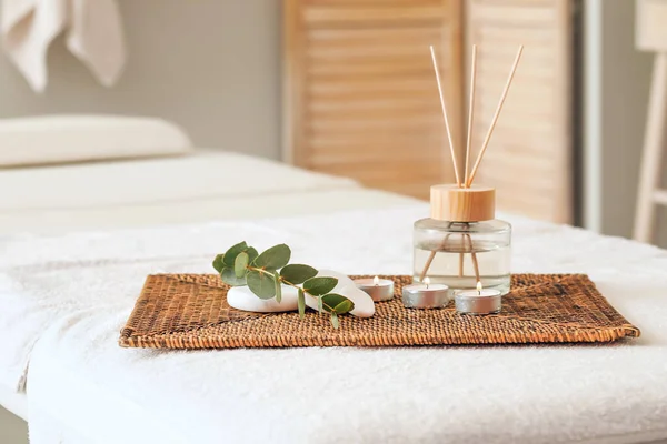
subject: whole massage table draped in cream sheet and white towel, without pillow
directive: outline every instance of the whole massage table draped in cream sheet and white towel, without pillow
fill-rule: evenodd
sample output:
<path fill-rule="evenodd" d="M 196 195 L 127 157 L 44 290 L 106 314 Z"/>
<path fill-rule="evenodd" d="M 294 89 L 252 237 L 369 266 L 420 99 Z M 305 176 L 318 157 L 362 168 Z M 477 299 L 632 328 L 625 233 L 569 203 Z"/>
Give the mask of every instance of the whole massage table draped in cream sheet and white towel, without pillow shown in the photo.
<path fill-rule="evenodd" d="M 202 165 L 183 170 L 186 159 L 220 159 L 220 174 L 217 167 L 210 174 L 197 173 Z M 3 209 L 0 404 L 28 420 L 33 443 L 667 438 L 667 252 L 510 214 L 501 218 L 515 230 L 514 272 L 588 273 L 641 337 L 552 346 L 120 349 L 119 330 L 149 273 L 210 273 L 216 253 L 246 240 L 260 249 L 288 243 L 295 260 L 345 273 L 409 274 L 411 224 L 428 214 L 422 202 L 238 154 L 145 162 L 159 164 L 148 175 L 160 182 L 155 190 L 170 192 L 150 194 L 135 188 L 137 179 L 121 186 L 122 196 L 110 188 L 96 199 L 82 183 L 118 183 L 101 173 L 118 163 L 101 162 L 78 165 L 100 168 L 76 173 L 88 178 L 78 185 L 57 185 L 46 179 L 53 170 L 43 172 L 56 190 Z M 238 184 L 235 162 L 281 180 L 229 192 L 219 182 Z M 139 164 L 117 174 L 128 183 L 145 179 L 146 171 L 122 173 Z M 67 168 L 72 178 L 76 165 Z M 200 185 L 170 188 L 177 170 Z M 4 173 L 0 183 L 29 182 Z M 301 185 L 282 188 L 291 179 Z M 211 195 L 212 182 L 220 186 Z M 67 201 L 73 192 L 80 198 Z"/>

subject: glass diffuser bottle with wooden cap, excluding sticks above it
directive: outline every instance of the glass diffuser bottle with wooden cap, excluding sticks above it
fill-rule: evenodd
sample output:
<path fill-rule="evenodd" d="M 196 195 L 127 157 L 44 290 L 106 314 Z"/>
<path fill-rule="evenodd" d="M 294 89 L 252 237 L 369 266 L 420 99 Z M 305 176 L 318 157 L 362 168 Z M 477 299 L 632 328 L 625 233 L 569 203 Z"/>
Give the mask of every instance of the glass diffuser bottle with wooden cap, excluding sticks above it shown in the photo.
<path fill-rule="evenodd" d="M 431 216 L 415 222 L 414 280 L 449 286 L 451 294 L 510 286 L 511 225 L 496 220 L 494 188 L 434 185 Z"/>

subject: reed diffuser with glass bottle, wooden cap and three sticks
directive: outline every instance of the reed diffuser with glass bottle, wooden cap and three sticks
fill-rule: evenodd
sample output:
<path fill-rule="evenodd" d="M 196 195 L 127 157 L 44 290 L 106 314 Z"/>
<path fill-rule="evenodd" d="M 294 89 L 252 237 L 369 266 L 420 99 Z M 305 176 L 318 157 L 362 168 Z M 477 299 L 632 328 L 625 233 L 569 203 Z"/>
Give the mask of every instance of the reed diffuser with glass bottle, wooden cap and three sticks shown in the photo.
<path fill-rule="evenodd" d="M 522 51 L 520 46 L 489 130 L 475 164 L 469 169 L 477 74 L 477 46 L 472 46 L 466 160 L 464 174 L 459 174 L 437 57 L 434 47 L 430 47 L 456 183 L 431 186 L 430 218 L 415 222 L 412 273 L 416 282 L 428 278 L 432 283 L 449 286 L 450 294 L 474 289 L 479 292 L 482 289 L 497 290 L 500 294 L 509 292 L 511 226 L 495 219 L 496 190 L 474 185 L 472 181 L 489 145 Z"/>

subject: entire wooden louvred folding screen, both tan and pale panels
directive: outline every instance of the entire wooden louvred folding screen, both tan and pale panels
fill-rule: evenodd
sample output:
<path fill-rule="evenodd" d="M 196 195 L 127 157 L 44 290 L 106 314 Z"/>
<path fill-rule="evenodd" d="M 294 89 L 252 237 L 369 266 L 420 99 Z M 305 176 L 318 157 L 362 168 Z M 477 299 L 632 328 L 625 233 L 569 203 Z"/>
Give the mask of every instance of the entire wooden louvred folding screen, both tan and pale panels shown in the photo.
<path fill-rule="evenodd" d="M 478 44 L 474 153 L 519 43 L 521 64 L 477 183 L 498 206 L 569 222 L 568 0 L 285 0 L 285 159 L 420 198 L 452 182 L 429 44 L 439 50 L 462 163 L 470 44 Z M 465 37 L 465 38 L 464 38 Z"/>

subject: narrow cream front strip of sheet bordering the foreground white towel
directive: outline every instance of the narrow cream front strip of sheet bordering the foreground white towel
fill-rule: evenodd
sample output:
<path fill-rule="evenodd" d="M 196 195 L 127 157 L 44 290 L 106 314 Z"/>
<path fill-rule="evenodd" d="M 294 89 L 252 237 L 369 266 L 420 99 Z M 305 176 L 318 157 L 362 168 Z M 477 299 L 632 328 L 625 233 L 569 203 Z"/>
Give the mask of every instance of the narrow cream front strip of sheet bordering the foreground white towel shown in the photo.
<path fill-rule="evenodd" d="M 0 212 L 0 232 L 62 233 L 81 230 L 155 226 L 167 223 L 307 215 L 344 210 L 372 210 L 411 204 L 416 199 L 344 184 L 322 189 L 103 208 Z"/>

